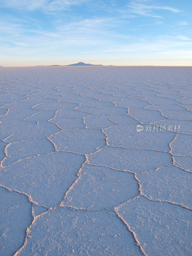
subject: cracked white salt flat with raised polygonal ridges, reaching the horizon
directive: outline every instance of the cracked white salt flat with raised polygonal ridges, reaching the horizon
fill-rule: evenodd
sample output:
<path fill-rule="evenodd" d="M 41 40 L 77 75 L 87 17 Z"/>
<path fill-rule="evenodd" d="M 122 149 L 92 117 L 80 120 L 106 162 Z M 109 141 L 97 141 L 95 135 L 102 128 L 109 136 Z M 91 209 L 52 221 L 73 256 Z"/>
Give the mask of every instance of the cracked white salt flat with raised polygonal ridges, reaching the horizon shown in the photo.
<path fill-rule="evenodd" d="M 0 68 L 0 255 L 192 255 L 191 71 Z"/>

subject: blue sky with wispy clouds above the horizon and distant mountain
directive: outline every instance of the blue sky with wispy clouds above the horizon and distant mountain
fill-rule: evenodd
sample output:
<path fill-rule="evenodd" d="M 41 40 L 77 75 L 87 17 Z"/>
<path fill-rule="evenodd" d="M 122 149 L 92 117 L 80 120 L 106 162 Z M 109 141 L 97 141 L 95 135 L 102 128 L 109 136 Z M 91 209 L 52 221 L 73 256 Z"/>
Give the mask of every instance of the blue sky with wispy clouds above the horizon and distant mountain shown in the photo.
<path fill-rule="evenodd" d="M 0 0 L 0 66 L 192 66 L 191 0 Z"/>

